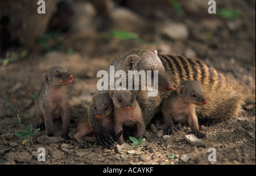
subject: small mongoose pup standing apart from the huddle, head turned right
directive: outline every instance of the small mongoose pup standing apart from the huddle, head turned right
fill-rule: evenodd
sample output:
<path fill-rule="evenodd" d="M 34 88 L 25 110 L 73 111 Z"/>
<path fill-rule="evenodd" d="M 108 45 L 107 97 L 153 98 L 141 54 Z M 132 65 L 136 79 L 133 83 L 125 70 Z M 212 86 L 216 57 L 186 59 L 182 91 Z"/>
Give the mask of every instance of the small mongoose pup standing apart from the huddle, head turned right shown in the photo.
<path fill-rule="evenodd" d="M 59 118 L 63 123 L 63 137 L 69 139 L 69 108 L 65 85 L 73 81 L 64 66 L 53 66 L 43 74 L 44 86 L 35 102 L 36 116 L 40 119 L 39 126 L 46 127 L 46 135 L 53 136 L 53 118 Z"/>

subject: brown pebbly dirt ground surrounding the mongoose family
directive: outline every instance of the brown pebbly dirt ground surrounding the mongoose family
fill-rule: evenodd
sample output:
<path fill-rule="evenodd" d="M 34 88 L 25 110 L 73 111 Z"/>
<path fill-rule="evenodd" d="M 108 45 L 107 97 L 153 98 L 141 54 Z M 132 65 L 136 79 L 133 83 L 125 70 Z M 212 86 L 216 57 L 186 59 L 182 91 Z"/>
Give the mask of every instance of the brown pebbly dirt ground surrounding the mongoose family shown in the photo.
<path fill-rule="evenodd" d="M 75 6 L 78 18 L 71 30 L 61 35 L 59 49 L 46 53 L 29 52 L 18 61 L 0 65 L 0 164 L 255 164 L 255 111 L 246 111 L 250 107 L 241 108 L 232 119 L 211 127 L 201 126 L 206 137 L 200 144 L 191 144 L 185 139 L 191 132 L 185 126 L 172 136 L 163 135 L 163 130 L 158 128 L 159 119 L 148 125 L 140 153 L 130 148 L 130 141 L 117 149 L 109 149 L 98 144 L 83 148 L 73 139 L 77 123 L 97 91 L 97 72 L 105 70 L 115 57 L 131 49 L 156 49 L 168 55 L 197 58 L 226 77 L 245 82 L 255 89 L 255 1 L 216 2 L 217 10 L 229 7 L 242 15 L 234 19 L 209 15 L 206 1 L 200 6 L 203 10 L 196 6 L 197 3 L 191 4 L 185 9 L 187 15 L 179 16 L 173 12 L 168 20 L 150 19 L 127 8 L 115 7 L 113 26 L 103 33 L 95 32 L 97 23 L 92 5 L 79 2 Z M 205 12 L 200 14 L 199 11 Z M 176 31 L 181 33 L 169 35 L 159 29 L 159 26 L 169 24 L 177 26 Z M 135 32 L 141 40 L 102 37 L 116 29 Z M 68 52 L 70 48 L 72 52 Z M 14 135 L 19 126 L 9 116 L 13 112 L 2 91 L 19 114 L 22 127 L 26 129 L 32 123 L 35 128 L 37 121 L 31 96 L 38 94 L 43 85 L 43 73 L 53 65 L 66 66 L 74 76 L 73 83 L 67 86 L 71 119 L 75 121 L 69 132 L 71 140 L 60 137 L 61 121 L 55 121 L 55 137 L 48 137 L 45 130 L 40 130 L 35 133 L 33 144 L 31 141 L 22 144 L 23 138 Z M 45 149 L 46 161 L 37 160 L 39 148 Z M 212 150 L 208 152 L 210 148 L 216 151 L 216 161 L 208 160 L 212 154 Z M 175 157 L 170 158 L 171 154 Z"/>

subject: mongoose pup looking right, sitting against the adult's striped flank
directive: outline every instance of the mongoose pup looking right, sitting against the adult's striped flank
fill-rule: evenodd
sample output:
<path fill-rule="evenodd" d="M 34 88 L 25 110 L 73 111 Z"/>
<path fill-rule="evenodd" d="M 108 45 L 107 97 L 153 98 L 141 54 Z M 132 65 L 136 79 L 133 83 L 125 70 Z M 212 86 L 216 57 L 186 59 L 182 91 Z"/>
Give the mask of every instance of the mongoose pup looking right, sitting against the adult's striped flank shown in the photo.
<path fill-rule="evenodd" d="M 198 138 L 203 138 L 205 135 L 199 132 L 195 106 L 203 106 L 207 103 L 203 86 L 197 81 L 184 81 L 176 90 L 172 90 L 162 107 L 167 135 L 177 131 L 174 127 L 176 122 L 188 123 L 192 133 Z"/>

